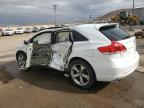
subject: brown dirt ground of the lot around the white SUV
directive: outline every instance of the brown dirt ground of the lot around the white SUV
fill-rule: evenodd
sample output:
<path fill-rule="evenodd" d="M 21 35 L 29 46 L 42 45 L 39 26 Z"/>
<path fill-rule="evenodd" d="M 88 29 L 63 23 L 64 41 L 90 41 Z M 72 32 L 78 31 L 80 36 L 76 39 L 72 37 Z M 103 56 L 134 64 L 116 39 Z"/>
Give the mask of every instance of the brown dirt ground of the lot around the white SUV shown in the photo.
<path fill-rule="evenodd" d="M 144 108 L 144 73 L 81 90 L 59 71 L 35 67 L 20 72 L 15 48 L 31 35 L 0 37 L 0 108 Z M 137 42 L 144 66 L 144 40 Z"/>

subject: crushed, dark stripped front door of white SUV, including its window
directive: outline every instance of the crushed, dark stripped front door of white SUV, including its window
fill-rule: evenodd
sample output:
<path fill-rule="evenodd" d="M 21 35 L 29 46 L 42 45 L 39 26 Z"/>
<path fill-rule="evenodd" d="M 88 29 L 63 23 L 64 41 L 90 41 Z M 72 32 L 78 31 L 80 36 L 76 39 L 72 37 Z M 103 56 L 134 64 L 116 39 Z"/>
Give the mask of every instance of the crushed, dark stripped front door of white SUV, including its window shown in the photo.
<path fill-rule="evenodd" d="M 33 48 L 31 54 L 32 65 L 49 65 L 52 59 L 51 33 L 42 33 L 33 40 Z"/>

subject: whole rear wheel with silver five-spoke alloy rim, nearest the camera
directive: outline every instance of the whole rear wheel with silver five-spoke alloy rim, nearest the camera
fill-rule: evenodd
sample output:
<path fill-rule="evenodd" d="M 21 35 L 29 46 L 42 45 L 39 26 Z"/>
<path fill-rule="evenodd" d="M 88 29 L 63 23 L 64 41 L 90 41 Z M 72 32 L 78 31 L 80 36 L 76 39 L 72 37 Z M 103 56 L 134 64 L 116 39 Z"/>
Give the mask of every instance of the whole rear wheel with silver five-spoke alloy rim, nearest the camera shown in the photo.
<path fill-rule="evenodd" d="M 79 88 L 91 88 L 96 82 L 93 69 L 82 60 L 74 60 L 70 63 L 69 74 L 73 84 Z"/>

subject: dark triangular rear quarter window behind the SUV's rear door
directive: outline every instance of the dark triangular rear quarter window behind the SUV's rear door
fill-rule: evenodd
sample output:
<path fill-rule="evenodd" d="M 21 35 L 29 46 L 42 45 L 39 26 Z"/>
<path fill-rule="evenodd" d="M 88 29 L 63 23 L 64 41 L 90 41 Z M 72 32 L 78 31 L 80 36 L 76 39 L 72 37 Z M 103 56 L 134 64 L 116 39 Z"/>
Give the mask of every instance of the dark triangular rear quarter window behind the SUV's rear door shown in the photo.
<path fill-rule="evenodd" d="M 78 41 L 88 41 L 88 39 L 86 37 L 84 37 L 82 34 L 80 34 L 77 31 L 72 31 L 72 35 L 73 35 L 73 40 L 75 42 L 78 42 Z"/>

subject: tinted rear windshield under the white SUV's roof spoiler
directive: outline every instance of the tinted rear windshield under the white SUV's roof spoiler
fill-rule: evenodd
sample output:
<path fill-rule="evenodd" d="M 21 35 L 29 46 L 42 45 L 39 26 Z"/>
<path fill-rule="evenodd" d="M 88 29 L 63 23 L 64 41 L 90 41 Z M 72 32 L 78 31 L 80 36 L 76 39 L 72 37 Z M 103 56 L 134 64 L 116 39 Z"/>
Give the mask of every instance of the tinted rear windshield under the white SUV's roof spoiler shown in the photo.
<path fill-rule="evenodd" d="M 120 28 L 117 28 L 116 26 L 102 27 L 100 28 L 100 32 L 103 33 L 111 41 L 120 41 L 130 37 L 130 34 Z"/>

